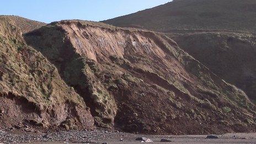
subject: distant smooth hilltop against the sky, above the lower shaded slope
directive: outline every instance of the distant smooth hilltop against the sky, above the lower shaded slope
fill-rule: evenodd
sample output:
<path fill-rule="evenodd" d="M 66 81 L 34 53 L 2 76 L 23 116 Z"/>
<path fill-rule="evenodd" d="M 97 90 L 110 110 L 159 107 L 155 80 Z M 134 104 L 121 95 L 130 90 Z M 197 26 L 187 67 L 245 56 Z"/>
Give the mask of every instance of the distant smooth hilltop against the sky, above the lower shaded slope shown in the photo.
<path fill-rule="evenodd" d="M 152 30 L 256 30 L 254 0 L 183 0 L 103 21 Z"/>

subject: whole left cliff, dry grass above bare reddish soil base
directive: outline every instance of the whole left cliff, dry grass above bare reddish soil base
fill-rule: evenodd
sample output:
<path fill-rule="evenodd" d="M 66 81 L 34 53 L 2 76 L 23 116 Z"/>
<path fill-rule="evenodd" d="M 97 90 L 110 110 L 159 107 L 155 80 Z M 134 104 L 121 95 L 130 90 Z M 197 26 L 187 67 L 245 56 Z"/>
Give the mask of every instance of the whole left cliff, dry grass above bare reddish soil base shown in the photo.
<path fill-rule="evenodd" d="M 83 99 L 54 65 L 25 44 L 23 31 L 12 17 L 0 17 L 0 129 L 92 129 Z"/>

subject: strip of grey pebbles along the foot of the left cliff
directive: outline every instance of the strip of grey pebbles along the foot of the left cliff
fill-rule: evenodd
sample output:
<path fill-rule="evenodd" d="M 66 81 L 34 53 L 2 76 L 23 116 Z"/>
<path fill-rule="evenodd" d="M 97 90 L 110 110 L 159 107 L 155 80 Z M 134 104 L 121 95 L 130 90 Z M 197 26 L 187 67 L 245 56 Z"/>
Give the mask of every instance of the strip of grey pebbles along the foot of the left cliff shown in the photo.
<path fill-rule="evenodd" d="M 120 135 L 126 135 L 123 132 L 115 132 L 108 130 L 93 130 L 93 131 L 58 131 L 47 132 L 47 134 L 40 133 L 26 133 L 14 134 L 10 131 L 0 130 L 0 143 L 30 143 L 30 142 L 50 142 L 50 141 L 62 141 L 66 143 L 70 142 L 89 142 L 92 141 L 104 141 L 110 138 L 116 138 L 119 140 Z M 122 138 L 120 139 L 122 140 Z"/>

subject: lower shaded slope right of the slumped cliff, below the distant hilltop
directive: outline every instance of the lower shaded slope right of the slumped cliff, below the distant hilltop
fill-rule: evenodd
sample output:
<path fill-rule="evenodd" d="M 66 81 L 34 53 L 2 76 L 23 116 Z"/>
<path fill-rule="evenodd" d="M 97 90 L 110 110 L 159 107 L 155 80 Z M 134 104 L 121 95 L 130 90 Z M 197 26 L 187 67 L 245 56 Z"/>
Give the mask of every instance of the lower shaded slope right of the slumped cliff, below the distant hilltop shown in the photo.
<path fill-rule="evenodd" d="M 256 102 L 256 36 L 252 33 L 170 35 L 180 48 Z"/>

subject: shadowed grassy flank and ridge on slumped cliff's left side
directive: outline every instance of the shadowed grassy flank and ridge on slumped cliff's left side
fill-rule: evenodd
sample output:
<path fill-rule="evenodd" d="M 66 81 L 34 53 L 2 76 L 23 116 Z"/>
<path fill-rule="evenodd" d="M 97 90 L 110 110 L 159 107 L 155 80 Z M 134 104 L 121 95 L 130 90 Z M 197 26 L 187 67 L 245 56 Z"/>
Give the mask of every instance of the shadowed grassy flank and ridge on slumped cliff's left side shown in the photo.
<path fill-rule="evenodd" d="M 87 24 L 95 26 L 91 22 L 82 20 L 63 20 L 25 34 L 25 40 L 54 63 L 68 86 L 73 87 L 81 95 L 86 104 L 90 106 L 95 125 L 111 127 L 116 115 L 116 103 L 113 96 L 109 94 L 108 88 L 105 88 L 104 83 L 98 79 L 100 77 L 98 63 L 74 52 L 73 45 L 65 43 L 68 42 L 65 39 L 66 34 L 60 30 L 62 23 L 76 22 L 77 26 L 83 27 Z M 65 47 L 66 53 L 63 53 L 63 47 Z"/>

